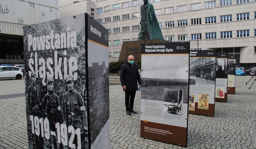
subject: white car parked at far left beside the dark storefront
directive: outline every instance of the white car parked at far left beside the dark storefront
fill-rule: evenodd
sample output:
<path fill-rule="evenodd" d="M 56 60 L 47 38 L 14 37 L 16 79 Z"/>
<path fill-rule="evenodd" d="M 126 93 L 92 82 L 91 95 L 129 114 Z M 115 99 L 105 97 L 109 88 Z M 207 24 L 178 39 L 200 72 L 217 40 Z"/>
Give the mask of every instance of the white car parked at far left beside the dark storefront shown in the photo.
<path fill-rule="evenodd" d="M 0 66 L 0 79 L 17 79 L 23 76 L 22 68 L 12 66 Z"/>

